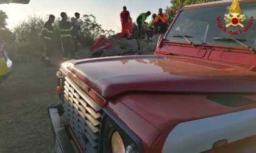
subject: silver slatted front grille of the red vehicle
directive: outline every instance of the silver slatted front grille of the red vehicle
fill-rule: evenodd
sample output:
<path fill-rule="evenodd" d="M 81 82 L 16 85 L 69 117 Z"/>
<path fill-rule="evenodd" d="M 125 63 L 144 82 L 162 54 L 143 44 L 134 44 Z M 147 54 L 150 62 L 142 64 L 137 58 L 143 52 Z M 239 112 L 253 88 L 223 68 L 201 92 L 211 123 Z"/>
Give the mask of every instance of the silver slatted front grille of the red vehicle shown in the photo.
<path fill-rule="evenodd" d="M 62 101 L 65 116 L 85 152 L 98 152 L 101 107 L 69 77 Z"/>

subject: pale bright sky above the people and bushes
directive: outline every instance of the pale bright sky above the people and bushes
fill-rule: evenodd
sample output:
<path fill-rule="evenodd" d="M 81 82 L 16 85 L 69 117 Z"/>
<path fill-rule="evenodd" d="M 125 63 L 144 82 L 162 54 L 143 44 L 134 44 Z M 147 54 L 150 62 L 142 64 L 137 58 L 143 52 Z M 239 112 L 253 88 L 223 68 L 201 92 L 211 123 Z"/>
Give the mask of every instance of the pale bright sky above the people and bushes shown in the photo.
<path fill-rule="evenodd" d="M 157 13 L 159 8 L 164 10 L 171 6 L 171 0 L 30 0 L 29 4 L 1 4 L 0 10 L 8 16 L 7 27 L 13 27 L 21 21 L 26 21 L 30 15 L 46 16 L 53 14 L 60 18 L 60 12 L 66 12 L 69 17 L 73 17 L 75 12 L 82 15 L 93 15 L 96 22 L 102 25 L 104 30 L 121 31 L 119 14 L 123 11 L 123 6 L 127 7 L 133 21 L 136 21 L 140 13 L 148 11 Z M 150 18 L 146 21 L 150 21 Z"/>

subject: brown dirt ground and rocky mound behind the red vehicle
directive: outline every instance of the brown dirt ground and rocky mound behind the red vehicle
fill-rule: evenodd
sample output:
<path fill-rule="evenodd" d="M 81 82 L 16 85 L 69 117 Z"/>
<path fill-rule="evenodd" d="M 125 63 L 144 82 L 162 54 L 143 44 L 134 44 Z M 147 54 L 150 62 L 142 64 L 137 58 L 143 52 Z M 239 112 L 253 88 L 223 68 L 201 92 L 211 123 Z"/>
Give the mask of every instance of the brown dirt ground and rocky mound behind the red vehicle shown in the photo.
<path fill-rule="evenodd" d="M 142 54 L 152 54 L 159 35 L 139 40 Z M 135 39 L 110 39 L 107 50 L 137 49 Z M 90 58 L 91 50 L 80 49 L 77 58 Z M 28 63 L 13 63 L 9 78 L 0 84 L 0 152 L 55 152 L 47 106 L 59 101 L 56 90 L 61 52 L 52 56 L 54 67 L 44 67 L 40 53 Z"/>

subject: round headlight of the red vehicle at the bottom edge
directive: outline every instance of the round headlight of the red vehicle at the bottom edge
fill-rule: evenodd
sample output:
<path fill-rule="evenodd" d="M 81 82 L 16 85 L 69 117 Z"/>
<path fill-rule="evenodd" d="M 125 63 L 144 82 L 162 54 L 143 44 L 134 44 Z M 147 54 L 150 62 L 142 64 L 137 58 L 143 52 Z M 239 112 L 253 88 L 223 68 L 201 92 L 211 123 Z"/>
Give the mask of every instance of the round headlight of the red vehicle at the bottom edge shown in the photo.
<path fill-rule="evenodd" d="M 125 153 L 123 140 L 117 131 L 112 135 L 111 146 L 113 153 Z"/>

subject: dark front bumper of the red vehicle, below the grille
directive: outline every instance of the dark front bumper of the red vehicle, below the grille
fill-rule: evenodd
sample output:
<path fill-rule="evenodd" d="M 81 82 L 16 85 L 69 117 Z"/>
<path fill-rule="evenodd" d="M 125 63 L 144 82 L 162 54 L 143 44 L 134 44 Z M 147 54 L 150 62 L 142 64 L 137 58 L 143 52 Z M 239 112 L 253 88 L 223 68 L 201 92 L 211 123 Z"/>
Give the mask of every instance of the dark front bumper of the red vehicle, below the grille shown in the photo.
<path fill-rule="evenodd" d="M 51 127 L 52 133 L 54 134 L 56 151 L 63 153 L 76 152 L 60 119 L 60 114 L 62 114 L 61 104 L 53 103 L 49 105 L 48 114 L 51 118 Z"/>

